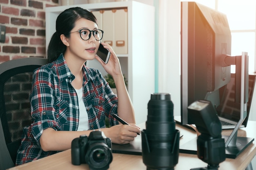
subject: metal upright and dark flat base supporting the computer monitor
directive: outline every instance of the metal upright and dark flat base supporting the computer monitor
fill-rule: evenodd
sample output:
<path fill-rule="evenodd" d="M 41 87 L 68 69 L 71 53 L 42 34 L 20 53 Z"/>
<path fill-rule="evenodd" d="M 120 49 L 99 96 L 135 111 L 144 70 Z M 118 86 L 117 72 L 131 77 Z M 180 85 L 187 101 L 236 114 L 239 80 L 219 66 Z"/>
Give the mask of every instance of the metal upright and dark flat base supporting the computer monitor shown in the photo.
<path fill-rule="evenodd" d="M 254 141 L 254 138 L 238 137 L 238 129 L 247 116 L 247 101 L 248 101 L 248 62 L 249 56 L 247 52 L 242 52 L 241 56 L 236 56 L 236 74 L 240 78 L 240 120 L 236 124 L 234 130 L 229 136 L 222 136 L 225 139 L 226 157 L 235 159 L 240 153 Z M 237 78 L 237 76 L 236 76 Z M 247 82 L 247 83 L 246 83 Z M 247 93 L 247 94 L 246 94 Z M 238 100 L 239 101 L 239 100 Z M 180 153 L 197 154 L 197 138 L 180 146 Z"/>

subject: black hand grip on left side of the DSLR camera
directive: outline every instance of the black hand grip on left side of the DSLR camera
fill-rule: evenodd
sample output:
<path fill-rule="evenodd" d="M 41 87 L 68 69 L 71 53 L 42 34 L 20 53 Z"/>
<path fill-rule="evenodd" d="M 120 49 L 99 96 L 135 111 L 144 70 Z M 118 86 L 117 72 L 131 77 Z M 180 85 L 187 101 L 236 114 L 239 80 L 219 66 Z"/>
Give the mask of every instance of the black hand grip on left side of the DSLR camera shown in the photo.
<path fill-rule="evenodd" d="M 71 142 L 71 162 L 73 165 L 80 165 L 80 148 L 79 137 L 75 138 Z"/>

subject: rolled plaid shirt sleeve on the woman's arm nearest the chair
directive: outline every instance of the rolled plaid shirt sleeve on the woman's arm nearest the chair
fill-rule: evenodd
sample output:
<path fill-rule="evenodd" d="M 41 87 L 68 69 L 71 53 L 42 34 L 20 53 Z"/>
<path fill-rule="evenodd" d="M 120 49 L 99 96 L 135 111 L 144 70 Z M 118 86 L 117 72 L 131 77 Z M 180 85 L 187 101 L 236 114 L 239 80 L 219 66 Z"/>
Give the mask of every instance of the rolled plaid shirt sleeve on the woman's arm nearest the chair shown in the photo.
<path fill-rule="evenodd" d="M 36 70 L 31 95 L 31 115 L 34 118 L 31 132 L 37 142 L 39 142 L 43 129 L 51 127 L 60 131 L 62 130 L 61 122 L 66 122 L 64 114 L 57 114 L 61 112 L 59 111 L 60 103 L 56 102 L 58 100 L 56 100 L 54 86 L 52 72 L 45 69 Z"/>

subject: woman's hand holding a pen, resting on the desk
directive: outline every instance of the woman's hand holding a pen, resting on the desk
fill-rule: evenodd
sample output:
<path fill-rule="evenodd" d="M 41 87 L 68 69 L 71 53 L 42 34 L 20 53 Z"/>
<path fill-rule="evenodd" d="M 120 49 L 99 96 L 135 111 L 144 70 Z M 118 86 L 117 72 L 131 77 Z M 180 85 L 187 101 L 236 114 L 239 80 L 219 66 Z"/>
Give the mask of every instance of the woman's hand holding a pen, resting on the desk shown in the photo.
<path fill-rule="evenodd" d="M 104 134 L 115 144 L 128 144 L 140 133 L 139 127 L 126 124 L 118 124 L 105 130 Z"/>

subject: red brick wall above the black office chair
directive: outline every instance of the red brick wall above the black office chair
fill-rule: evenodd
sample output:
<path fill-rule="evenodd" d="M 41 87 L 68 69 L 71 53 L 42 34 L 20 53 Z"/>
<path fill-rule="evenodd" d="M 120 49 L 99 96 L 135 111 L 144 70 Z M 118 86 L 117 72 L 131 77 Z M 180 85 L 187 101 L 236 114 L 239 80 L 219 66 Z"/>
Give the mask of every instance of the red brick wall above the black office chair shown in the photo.
<path fill-rule="evenodd" d="M 0 63 L 45 57 L 45 7 L 51 6 L 58 6 L 58 0 L 0 0 L 0 25 L 6 26 Z"/>

